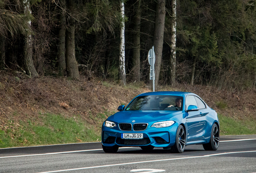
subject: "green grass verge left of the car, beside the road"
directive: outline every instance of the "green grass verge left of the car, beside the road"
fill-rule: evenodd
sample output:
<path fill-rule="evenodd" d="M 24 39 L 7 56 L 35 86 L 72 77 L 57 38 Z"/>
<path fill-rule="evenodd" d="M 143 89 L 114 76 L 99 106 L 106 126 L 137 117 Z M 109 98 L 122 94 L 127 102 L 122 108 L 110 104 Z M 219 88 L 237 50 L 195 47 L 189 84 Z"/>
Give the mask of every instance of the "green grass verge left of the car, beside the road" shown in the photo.
<path fill-rule="evenodd" d="M 39 119 L 40 124 L 10 121 L 5 130 L 0 129 L 0 148 L 101 141 L 100 128 L 95 129 L 79 115 L 65 118 L 46 114 L 39 115 Z"/>

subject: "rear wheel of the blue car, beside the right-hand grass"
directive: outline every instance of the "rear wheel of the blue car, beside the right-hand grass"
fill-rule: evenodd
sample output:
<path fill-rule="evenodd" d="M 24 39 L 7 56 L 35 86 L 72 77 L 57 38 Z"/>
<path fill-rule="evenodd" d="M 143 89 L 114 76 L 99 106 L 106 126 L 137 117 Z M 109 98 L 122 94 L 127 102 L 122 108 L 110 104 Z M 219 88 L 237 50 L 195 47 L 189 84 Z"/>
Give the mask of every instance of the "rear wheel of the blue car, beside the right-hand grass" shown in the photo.
<path fill-rule="evenodd" d="M 219 147 L 219 127 L 214 123 L 211 131 L 209 143 L 203 144 L 204 150 L 216 151 Z"/>

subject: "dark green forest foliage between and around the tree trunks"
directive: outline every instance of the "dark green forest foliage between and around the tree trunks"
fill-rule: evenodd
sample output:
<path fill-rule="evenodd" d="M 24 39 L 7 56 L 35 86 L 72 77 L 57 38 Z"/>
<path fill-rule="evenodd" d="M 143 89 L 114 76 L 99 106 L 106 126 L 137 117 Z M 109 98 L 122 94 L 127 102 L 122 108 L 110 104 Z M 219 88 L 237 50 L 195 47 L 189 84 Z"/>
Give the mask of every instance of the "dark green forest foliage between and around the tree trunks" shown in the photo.
<path fill-rule="evenodd" d="M 59 14 L 74 19 L 75 55 L 81 75 L 118 80 L 120 0 L 63 1 L 29 0 L 31 14 L 25 14 L 23 1 L 0 1 L 0 34 L 6 45 L 6 65 L 22 65 L 22 34 L 27 32 L 27 21 L 32 20 L 33 57 L 37 72 L 52 75 L 58 60 Z M 68 1 L 67 1 L 68 2 Z M 126 74 L 133 70 L 134 1 L 125 0 Z M 147 51 L 154 34 L 155 1 L 141 1 L 140 76 L 148 82 Z M 256 81 L 256 2 L 252 0 L 186 0 L 177 1 L 176 56 L 178 82 L 189 82 L 191 66 L 196 60 L 195 84 L 210 84 L 219 88 L 244 90 L 254 87 Z M 160 76 L 169 68 L 172 37 L 171 1 L 166 2 L 165 42 Z M 63 23 L 69 28 L 69 20 Z M 6 39 L 4 39 L 6 38 Z M 12 53 L 14 52 L 14 53 Z M 15 57 L 12 57 L 12 54 Z M 11 65 L 10 64 L 15 64 Z M 23 67 L 22 67 L 23 68 Z M 20 70 L 20 69 L 19 69 Z M 55 74 L 54 74 L 55 75 Z M 62 74 L 61 74 L 62 75 Z M 63 74 L 65 76 L 65 74 Z M 1 87 L 0 87 L 1 88 Z"/>

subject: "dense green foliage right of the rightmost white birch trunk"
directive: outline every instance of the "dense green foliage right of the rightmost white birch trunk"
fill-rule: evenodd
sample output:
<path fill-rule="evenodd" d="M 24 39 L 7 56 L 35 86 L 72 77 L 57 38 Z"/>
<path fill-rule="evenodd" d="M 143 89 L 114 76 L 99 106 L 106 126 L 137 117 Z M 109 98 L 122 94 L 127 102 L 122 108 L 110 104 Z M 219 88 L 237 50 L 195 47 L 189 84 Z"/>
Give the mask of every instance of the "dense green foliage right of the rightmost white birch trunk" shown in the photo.
<path fill-rule="evenodd" d="M 249 0 L 179 1 L 177 60 L 192 64 L 195 57 L 195 76 L 202 83 L 236 89 L 254 86 L 254 5 Z"/>

